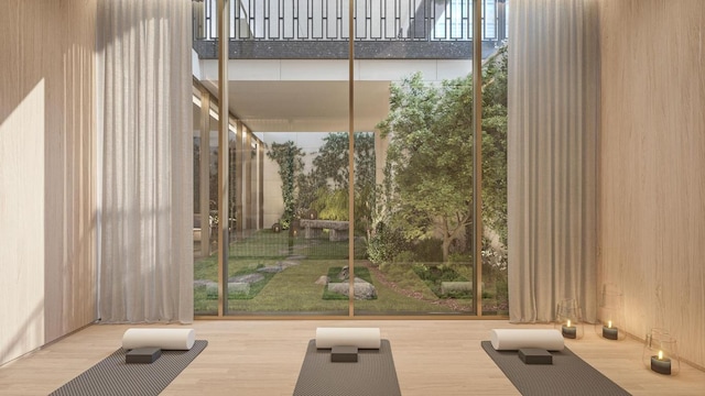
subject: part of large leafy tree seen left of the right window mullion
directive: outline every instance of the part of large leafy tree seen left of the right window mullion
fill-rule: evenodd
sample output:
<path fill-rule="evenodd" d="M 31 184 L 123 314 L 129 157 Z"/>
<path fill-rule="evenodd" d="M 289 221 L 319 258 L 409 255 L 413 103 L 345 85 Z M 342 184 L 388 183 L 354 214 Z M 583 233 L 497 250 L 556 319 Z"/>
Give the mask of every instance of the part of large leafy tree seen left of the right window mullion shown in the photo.
<path fill-rule="evenodd" d="M 378 124 L 382 136 L 390 139 L 390 222 L 408 240 L 441 234 L 444 261 L 471 220 L 468 87 L 469 77 L 432 86 L 414 74 L 392 85 L 389 116 Z"/>

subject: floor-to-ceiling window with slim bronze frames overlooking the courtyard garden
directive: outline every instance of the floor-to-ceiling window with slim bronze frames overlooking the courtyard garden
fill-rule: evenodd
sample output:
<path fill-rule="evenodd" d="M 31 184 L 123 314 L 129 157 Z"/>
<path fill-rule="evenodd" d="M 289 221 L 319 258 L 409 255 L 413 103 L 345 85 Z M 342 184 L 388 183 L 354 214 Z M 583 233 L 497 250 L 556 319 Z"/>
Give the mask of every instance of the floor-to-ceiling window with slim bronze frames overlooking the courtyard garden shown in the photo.
<path fill-rule="evenodd" d="M 194 2 L 196 315 L 506 315 L 506 2 L 482 4 L 476 261 L 471 0 L 232 2 L 226 167 L 217 7 Z"/>

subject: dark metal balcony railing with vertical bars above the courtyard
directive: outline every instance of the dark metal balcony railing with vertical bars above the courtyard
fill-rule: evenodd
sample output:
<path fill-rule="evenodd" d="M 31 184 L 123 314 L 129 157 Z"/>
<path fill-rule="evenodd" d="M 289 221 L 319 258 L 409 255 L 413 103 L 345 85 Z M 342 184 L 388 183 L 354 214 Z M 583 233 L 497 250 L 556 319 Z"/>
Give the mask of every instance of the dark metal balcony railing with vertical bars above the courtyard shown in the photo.
<path fill-rule="evenodd" d="M 354 1 L 354 0 L 350 0 Z M 482 41 L 507 37 L 507 0 L 482 1 Z M 217 0 L 193 2 L 194 41 L 217 38 Z M 230 40 L 347 41 L 346 0 L 232 0 Z M 473 0 L 357 0 L 355 40 L 471 41 Z"/>

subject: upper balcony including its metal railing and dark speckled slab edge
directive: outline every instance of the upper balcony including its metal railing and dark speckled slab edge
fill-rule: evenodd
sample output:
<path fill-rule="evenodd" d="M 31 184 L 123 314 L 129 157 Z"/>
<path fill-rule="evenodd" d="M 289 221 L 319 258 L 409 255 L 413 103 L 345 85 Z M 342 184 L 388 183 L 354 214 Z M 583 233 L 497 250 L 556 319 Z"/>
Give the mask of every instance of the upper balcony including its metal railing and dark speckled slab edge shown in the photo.
<path fill-rule="evenodd" d="M 482 0 L 482 57 L 507 37 L 506 1 Z M 471 59 L 471 0 L 358 0 L 357 59 Z M 340 0 L 230 2 L 230 59 L 347 59 Z M 193 3 L 194 50 L 217 58 L 216 0 Z"/>

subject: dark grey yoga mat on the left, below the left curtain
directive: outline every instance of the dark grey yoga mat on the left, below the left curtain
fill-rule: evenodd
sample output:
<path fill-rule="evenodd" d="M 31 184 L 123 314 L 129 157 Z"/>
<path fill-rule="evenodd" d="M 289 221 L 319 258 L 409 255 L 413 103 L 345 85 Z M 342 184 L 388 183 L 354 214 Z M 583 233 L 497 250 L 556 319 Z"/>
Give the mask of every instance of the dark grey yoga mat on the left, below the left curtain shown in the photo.
<path fill-rule="evenodd" d="M 159 395 L 203 351 L 208 341 L 196 340 L 188 351 L 162 351 L 153 363 L 126 363 L 120 348 L 51 396 Z"/>

